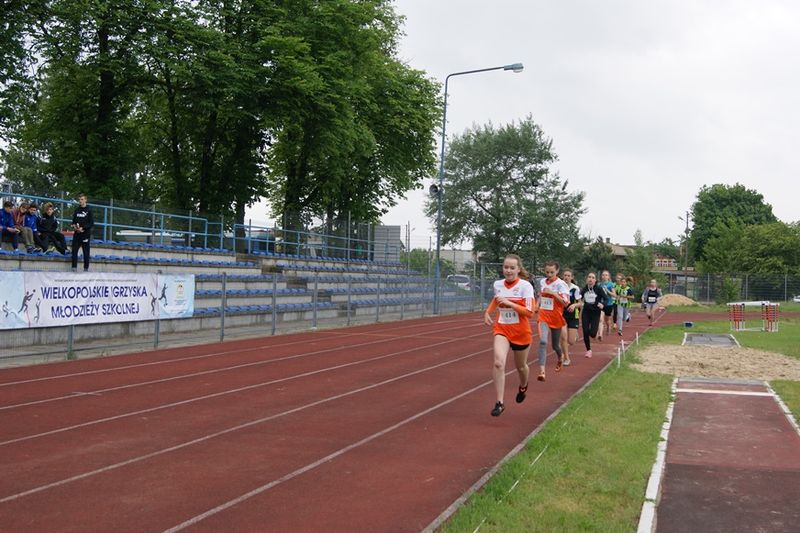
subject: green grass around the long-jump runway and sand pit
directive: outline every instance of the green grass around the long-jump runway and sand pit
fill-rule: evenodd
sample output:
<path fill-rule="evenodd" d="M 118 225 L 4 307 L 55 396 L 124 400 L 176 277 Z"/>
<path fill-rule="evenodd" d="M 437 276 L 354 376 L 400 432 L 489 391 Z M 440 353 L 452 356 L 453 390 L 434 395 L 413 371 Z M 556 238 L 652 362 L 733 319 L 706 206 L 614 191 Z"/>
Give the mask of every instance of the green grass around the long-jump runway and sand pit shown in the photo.
<path fill-rule="evenodd" d="M 685 331 L 682 325 L 649 330 L 620 369 L 612 366 L 573 399 L 441 531 L 472 532 L 479 524 L 481 532 L 635 531 L 672 376 L 642 373 L 630 363 L 651 344 L 680 344 Z M 688 331 L 729 333 L 730 324 L 696 322 Z M 777 333 L 735 336 L 742 346 L 800 358 L 800 318 L 781 318 Z M 771 385 L 797 417 L 800 382 Z"/>

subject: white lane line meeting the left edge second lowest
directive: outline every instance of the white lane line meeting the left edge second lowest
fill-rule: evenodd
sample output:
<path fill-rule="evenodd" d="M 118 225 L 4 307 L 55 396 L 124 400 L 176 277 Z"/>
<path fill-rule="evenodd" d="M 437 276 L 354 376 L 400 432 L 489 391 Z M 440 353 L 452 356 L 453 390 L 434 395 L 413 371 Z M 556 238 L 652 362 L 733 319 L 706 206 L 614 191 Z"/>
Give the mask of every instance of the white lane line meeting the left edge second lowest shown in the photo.
<path fill-rule="evenodd" d="M 469 335 L 467 337 L 462 337 L 460 340 L 470 339 L 470 338 L 478 337 L 478 336 L 483 337 L 484 335 L 485 335 L 485 333 L 481 332 L 480 334 L 475 334 L 475 335 Z M 287 376 L 287 377 L 284 377 L 284 378 L 273 379 L 273 380 L 270 380 L 270 381 L 263 381 L 261 383 L 255 383 L 253 385 L 246 385 L 244 387 L 239 387 L 237 389 L 230 389 L 230 390 L 225 390 L 225 391 L 221 391 L 221 392 L 215 392 L 213 394 L 206 394 L 204 396 L 196 396 L 194 398 L 188 398 L 186 400 L 181 400 L 179 402 L 172 402 L 172 403 L 168 403 L 168 404 L 158 405 L 156 407 L 151 407 L 149 409 L 141 409 L 139 411 L 132 411 L 132 412 L 122 413 L 122 414 L 119 414 L 119 415 L 109 416 L 109 417 L 105 417 L 105 418 L 99 418 L 97 420 L 90 420 L 88 422 L 82 422 L 80 424 L 75 424 L 75 425 L 72 425 L 72 426 L 66 426 L 66 427 L 62 427 L 62 428 L 57 428 L 57 429 L 53 429 L 53 430 L 50 430 L 50 431 L 44 431 L 42 433 L 37 433 L 35 435 L 26 435 L 25 437 L 18 437 L 16 439 L 2 441 L 2 442 L 0 442 L 0 446 L 7 446 L 9 444 L 14 444 L 14 443 L 17 443 L 17 442 L 24 442 L 24 441 L 28 441 L 28 440 L 41 438 L 41 437 L 46 437 L 48 435 L 55 435 L 57 433 L 64 433 L 65 431 L 71 431 L 71 430 L 74 430 L 74 429 L 85 428 L 85 427 L 94 426 L 94 425 L 97 425 L 97 424 L 103 424 L 103 423 L 106 423 L 106 422 L 113 422 L 114 420 L 120 420 L 122 418 L 129 418 L 129 417 L 132 417 L 132 416 L 138 416 L 138 415 L 143 415 L 143 414 L 146 414 L 146 413 L 152 413 L 152 412 L 155 412 L 155 411 L 161 411 L 163 409 L 170 409 L 172 407 L 179 407 L 179 406 L 182 406 L 182 405 L 187 405 L 187 404 L 194 403 L 194 402 L 199 402 L 199 401 L 202 401 L 202 400 L 208 400 L 208 399 L 212 399 L 212 398 L 219 398 L 221 396 L 227 396 L 229 394 L 236 394 L 236 393 L 239 393 L 239 392 L 244 392 L 244 391 L 248 391 L 248 390 L 252 390 L 252 389 L 256 389 L 256 388 L 260 388 L 260 387 L 267 387 L 269 385 L 275 385 L 277 383 L 283 383 L 283 382 L 291 381 L 291 380 L 294 380 L 294 379 L 313 376 L 313 375 L 316 375 L 316 374 L 321 374 L 323 372 L 330 372 L 330 371 L 333 371 L 333 370 L 340 370 L 342 368 L 347 368 L 347 367 L 351 367 L 351 366 L 362 365 L 362 364 L 366 364 L 366 363 L 373 363 L 375 361 L 380 361 L 382 359 L 388 359 L 390 357 L 396 357 L 398 355 L 403 355 L 403 354 L 407 354 L 407 353 L 411 353 L 411 352 L 418 352 L 418 351 L 428 350 L 430 348 L 433 348 L 433 347 L 436 347 L 436 346 L 439 346 L 439 345 L 442 345 L 442 344 L 447 344 L 448 342 L 451 342 L 451 341 L 443 341 L 443 342 L 438 342 L 438 343 L 435 343 L 435 344 L 428 344 L 428 345 L 423 346 L 423 347 L 408 348 L 406 350 L 392 352 L 392 353 L 388 353 L 388 354 L 384 354 L 384 355 L 378 355 L 378 356 L 375 356 L 375 357 L 370 357 L 368 359 L 359 359 L 358 361 L 352 361 L 350 363 L 342 363 L 340 365 L 331 366 L 331 367 L 327 367 L 327 368 L 320 368 L 320 369 L 317 369 L 317 370 L 312 370 L 310 372 L 303 372 L 301 374 L 295 374 L 295 375 Z M 80 393 L 80 394 L 87 394 L 87 393 Z"/>

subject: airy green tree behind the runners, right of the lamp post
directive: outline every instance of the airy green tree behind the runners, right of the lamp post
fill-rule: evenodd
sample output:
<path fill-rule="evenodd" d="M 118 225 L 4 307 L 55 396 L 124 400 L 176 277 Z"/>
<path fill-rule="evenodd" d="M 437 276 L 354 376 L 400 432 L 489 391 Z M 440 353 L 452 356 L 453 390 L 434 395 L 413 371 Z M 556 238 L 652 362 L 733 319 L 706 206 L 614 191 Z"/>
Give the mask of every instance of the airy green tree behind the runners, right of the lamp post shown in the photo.
<path fill-rule="evenodd" d="M 551 173 L 556 160 L 552 140 L 530 116 L 456 136 L 445 159 L 443 244 L 471 240 L 481 261 L 501 262 L 517 253 L 531 268 L 572 258 L 583 243 L 578 220 L 584 193 L 568 192 L 567 182 Z M 436 220 L 437 200 L 428 200 L 425 209 Z"/>

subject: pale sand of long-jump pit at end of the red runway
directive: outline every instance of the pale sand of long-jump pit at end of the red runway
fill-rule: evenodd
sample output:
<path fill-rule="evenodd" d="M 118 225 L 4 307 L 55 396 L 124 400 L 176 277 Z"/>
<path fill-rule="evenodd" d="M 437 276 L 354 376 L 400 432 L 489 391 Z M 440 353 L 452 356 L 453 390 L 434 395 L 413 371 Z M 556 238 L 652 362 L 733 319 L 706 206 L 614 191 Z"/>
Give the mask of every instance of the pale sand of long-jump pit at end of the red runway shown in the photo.
<path fill-rule="evenodd" d="M 800 381 L 800 360 L 752 348 L 650 346 L 639 352 L 643 372 L 679 377 Z"/>

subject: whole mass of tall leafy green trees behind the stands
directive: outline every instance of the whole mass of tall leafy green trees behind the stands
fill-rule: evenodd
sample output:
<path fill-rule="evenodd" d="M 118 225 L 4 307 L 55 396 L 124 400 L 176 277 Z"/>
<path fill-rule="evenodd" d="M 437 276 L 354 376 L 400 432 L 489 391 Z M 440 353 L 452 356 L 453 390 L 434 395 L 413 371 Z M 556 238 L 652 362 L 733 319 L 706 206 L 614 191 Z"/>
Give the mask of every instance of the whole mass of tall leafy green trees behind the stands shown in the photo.
<path fill-rule="evenodd" d="M 388 0 L 12 2 L 7 174 L 240 222 L 265 195 L 289 222 L 375 219 L 435 162 L 438 85 L 397 59 L 400 22 Z"/>

